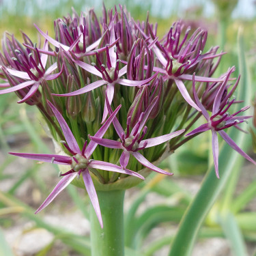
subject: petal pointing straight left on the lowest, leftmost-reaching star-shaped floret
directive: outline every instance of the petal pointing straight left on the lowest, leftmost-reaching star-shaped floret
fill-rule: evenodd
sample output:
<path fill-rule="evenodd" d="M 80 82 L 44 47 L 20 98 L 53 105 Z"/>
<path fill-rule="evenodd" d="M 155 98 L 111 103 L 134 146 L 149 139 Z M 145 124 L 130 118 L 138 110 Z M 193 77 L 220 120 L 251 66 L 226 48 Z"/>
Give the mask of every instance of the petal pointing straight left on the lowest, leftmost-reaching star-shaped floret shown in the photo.
<path fill-rule="evenodd" d="M 71 165 L 70 156 L 59 156 L 53 154 L 30 154 L 30 153 L 16 153 L 9 152 L 10 155 L 20 156 L 27 159 L 38 160 L 40 162 L 51 162 L 58 165 Z"/>

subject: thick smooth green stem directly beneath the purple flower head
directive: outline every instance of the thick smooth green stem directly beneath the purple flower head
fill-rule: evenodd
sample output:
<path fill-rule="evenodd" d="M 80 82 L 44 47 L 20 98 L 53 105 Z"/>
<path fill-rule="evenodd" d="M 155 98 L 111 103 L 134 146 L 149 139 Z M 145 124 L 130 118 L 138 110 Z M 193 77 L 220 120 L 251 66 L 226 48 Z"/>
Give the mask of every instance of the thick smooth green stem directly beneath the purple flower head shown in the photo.
<path fill-rule="evenodd" d="M 91 256 L 124 256 L 124 193 L 97 191 L 104 227 L 91 206 Z"/>

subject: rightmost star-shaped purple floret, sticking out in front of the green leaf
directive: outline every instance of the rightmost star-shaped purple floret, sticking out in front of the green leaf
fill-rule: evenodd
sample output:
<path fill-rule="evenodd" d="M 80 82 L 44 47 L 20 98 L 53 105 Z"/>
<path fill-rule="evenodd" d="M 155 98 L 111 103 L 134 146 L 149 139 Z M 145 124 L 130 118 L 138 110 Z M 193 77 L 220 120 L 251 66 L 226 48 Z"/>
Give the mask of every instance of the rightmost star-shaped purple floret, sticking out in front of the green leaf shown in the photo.
<path fill-rule="evenodd" d="M 229 110 L 230 106 L 233 104 L 235 99 L 229 101 L 225 100 L 225 104 L 223 104 L 222 99 L 223 99 L 223 94 L 225 92 L 225 89 L 227 87 L 227 81 L 229 80 L 229 76 L 233 72 L 233 69 L 230 69 L 229 72 L 227 73 L 227 76 L 225 77 L 225 81 L 221 84 L 221 87 L 218 89 L 218 93 L 216 94 L 216 98 L 214 99 L 214 103 L 212 106 L 212 116 L 208 114 L 208 111 L 206 111 L 205 107 L 203 104 L 200 102 L 197 92 L 195 89 L 195 74 L 193 75 L 193 95 L 195 97 L 195 102 L 197 102 L 197 106 L 201 109 L 201 112 L 205 119 L 207 120 L 206 124 L 202 124 L 198 128 L 195 128 L 192 132 L 189 132 L 188 134 L 185 135 L 185 137 L 188 137 L 190 135 L 199 133 L 199 132 L 205 132 L 206 130 L 211 130 L 212 132 L 212 154 L 214 158 L 214 167 L 215 167 L 215 172 L 216 176 L 219 178 L 218 175 L 218 134 L 221 135 L 221 137 L 230 145 L 230 147 L 233 148 L 233 150 L 236 150 L 240 155 L 242 155 L 244 158 L 249 160 L 250 162 L 253 162 L 253 164 L 256 165 L 256 162 L 250 158 L 244 151 L 236 145 L 236 143 L 229 137 L 229 135 L 224 132 L 225 128 L 231 127 L 231 126 L 237 126 L 238 124 L 241 124 L 242 122 L 245 122 L 246 119 L 250 118 L 251 116 L 236 116 L 238 113 L 241 113 L 243 111 L 246 111 L 246 109 L 249 108 L 249 106 L 245 106 L 244 108 L 240 109 L 240 111 L 237 111 L 236 113 L 233 113 L 230 115 L 227 113 Z M 239 82 L 236 81 L 236 83 Z M 236 87 L 236 85 L 234 85 Z"/>

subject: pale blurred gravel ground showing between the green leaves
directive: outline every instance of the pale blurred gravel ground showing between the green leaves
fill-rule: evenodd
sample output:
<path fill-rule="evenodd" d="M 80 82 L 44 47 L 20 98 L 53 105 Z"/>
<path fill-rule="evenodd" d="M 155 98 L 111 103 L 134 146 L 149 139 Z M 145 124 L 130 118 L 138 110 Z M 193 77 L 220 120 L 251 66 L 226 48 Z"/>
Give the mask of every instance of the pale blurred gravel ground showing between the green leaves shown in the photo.
<path fill-rule="evenodd" d="M 18 151 L 18 149 L 14 148 L 13 151 Z M 3 160 L 3 157 L 3 152 L 0 152 L 0 160 Z M 24 171 L 32 165 L 33 161 L 23 158 L 17 158 L 14 160 L 14 162 L 12 162 L 8 168 L 5 169 L 4 174 L 16 173 L 16 179 L 0 181 L 1 190 L 7 191 L 10 189 L 16 180 L 18 180 L 18 177 L 20 177 L 20 175 L 22 175 Z M 18 170 L 18 173 L 16 170 Z M 51 167 L 50 164 L 38 165 L 38 171 L 40 172 L 40 178 L 44 180 L 46 188 L 48 191 L 50 191 L 59 179 L 56 175 L 56 171 Z M 243 173 L 246 173 L 246 175 L 241 175 L 237 193 L 239 193 L 242 188 L 246 187 L 251 180 L 256 179 L 255 167 L 248 163 L 246 163 L 244 166 Z M 195 193 L 197 193 L 202 180 L 202 176 L 173 178 L 177 184 L 188 190 L 191 195 L 195 195 Z M 83 190 L 79 190 L 79 193 L 81 193 L 81 196 L 83 197 Z M 136 188 L 132 188 L 127 191 L 124 206 L 125 210 L 129 208 L 129 205 L 132 203 L 132 200 L 136 197 L 136 195 Z M 45 195 L 42 195 L 40 189 L 35 186 L 32 180 L 27 180 L 23 186 L 20 186 L 20 188 L 18 188 L 16 191 L 16 197 L 31 205 L 32 208 L 36 209 L 44 200 Z M 147 195 L 147 198 L 140 210 L 143 211 L 144 208 L 156 202 L 160 203 L 162 200 L 163 198 L 156 193 L 151 193 Z M 248 204 L 246 210 L 256 210 L 256 199 Z M 83 217 L 83 214 L 79 210 L 76 210 L 70 196 L 65 190 L 61 192 L 61 194 L 55 199 L 54 207 L 53 205 L 49 205 L 48 208 L 46 208 L 46 210 L 40 214 L 42 214 L 41 216 L 46 223 L 56 225 L 57 227 L 62 227 L 63 229 L 72 231 L 73 233 L 79 235 L 89 234 L 89 221 Z M 33 222 L 28 221 L 26 218 L 18 217 L 16 214 L 8 216 L 8 218 L 10 219 L 11 225 L 8 227 L 2 227 L 2 229 L 6 241 L 8 244 L 10 244 L 16 256 L 35 255 L 47 244 L 52 242 L 52 233 L 46 231 L 45 229 L 33 229 Z M 167 225 L 162 225 L 154 228 L 145 241 L 145 246 L 147 246 L 147 243 L 152 242 L 152 240 L 162 236 L 162 234 L 171 235 L 175 233 L 176 229 L 177 227 L 175 225 L 171 227 L 170 225 L 168 225 L 168 227 Z M 247 245 L 248 253 L 249 255 L 252 255 L 253 251 L 255 250 L 255 244 L 248 243 Z M 166 256 L 168 251 L 169 248 L 164 247 L 154 256 Z M 60 241 L 55 242 L 55 246 L 53 246 L 52 250 L 47 255 L 79 256 Z M 210 238 L 199 240 L 197 242 L 193 251 L 193 256 L 232 256 L 232 253 L 227 240 L 224 238 Z"/>

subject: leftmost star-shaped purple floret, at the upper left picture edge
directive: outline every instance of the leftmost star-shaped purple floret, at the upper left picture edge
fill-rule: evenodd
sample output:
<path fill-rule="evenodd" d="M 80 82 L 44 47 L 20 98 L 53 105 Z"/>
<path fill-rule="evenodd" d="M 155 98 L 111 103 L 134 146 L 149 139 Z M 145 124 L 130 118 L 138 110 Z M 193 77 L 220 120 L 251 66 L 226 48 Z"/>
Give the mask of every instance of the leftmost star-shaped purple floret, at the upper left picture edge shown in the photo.
<path fill-rule="evenodd" d="M 46 49 L 48 49 L 47 41 L 44 42 L 44 51 L 46 51 Z M 29 49 L 27 50 L 30 51 Z M 0 94 L 8 94 L 9 92 L 18 91 L 25 87 L 29 87 L 30 89 L 27 95 L 22 100 L 18 101 L 18 103 L 23 103 L 31 98 L 36 91 L 38 91 L 38 87 L 42 83 L 42 81 L 57 79 L 61 75 L 62 69 L 59 73 L 51 74 L 54 70 L 57 69 L 57 63 L 53 63 L 52 66 L 45 70 L 48 55 L 40 55 L 38 48 L 34 48 L 33 52 L 35 54 L 35 57 L 33 57 L 33 53 L 31 52 L 29 53 L 29 55 L 24 55 L 23 53 L 18 51 L 18 58 L 13 58 L 19 70 L 23 71 L 0 66 L 0 68 L 5 69 L 8 74 L 25 80 L 25 82 L 20 83 L 19 85 L 15 85 L 14 87 L 0 90 Z"/>

